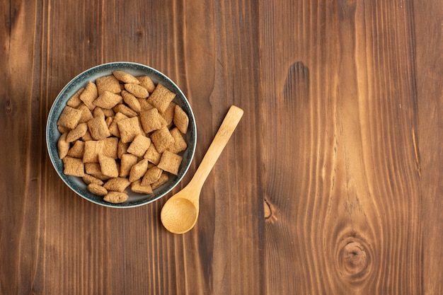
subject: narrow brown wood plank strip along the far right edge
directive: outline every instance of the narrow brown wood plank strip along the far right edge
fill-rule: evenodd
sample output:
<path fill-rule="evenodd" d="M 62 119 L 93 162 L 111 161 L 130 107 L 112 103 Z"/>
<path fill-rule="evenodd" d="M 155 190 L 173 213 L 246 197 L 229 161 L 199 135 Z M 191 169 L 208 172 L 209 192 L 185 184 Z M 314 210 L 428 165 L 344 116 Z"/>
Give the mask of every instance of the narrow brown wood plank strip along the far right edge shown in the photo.
<path fill-rule="evenodd" d="M 443 293 L 443 4 L 413 1 L 418 96 L 417 164 L 423 212 L 423 291 Z"/>

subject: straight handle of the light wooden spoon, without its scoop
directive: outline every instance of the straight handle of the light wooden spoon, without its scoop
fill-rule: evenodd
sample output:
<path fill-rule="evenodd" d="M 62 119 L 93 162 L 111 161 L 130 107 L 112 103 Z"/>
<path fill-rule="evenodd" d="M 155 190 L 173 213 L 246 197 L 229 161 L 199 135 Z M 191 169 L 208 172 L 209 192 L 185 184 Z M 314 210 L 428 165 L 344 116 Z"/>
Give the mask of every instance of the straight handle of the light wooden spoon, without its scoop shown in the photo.
<path fill-rule="evenodd" d="M 215 134 L 215 137 L 212 140 L 212 144 L 209 146 L 209 149 L 207 149 L 207 152 L 202 159 L 202 163 L 200 163 L 200 166 L 197 168 L 197 171 L 195 171 L 195 175 L 191 180 L 195 187 L 198 187 L 199 191 L 201 190 L 203 183 L 205 183 L 209 172 L 211 172 L 212 167 L 214 167 L 215 162 L 220 154 L 222 154 L 224 146 L 228 143 L 229 138 L 231 138 L 231 135 L 234 133 L 242 116 L 243 110 L 235 105 L 231 105 L 226 117 L 224 117 L 222 125 L 220 125 L 217 134 Z"/>

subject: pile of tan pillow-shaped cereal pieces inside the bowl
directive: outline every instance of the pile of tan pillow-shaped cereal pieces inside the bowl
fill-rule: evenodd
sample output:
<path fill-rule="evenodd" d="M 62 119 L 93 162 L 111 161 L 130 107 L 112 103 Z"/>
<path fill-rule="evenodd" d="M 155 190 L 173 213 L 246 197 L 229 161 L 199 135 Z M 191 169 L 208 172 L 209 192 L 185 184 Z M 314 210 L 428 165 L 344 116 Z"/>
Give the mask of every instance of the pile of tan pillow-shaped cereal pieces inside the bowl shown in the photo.
<path fill-rule="evenodd" d="M 64 174 L 81 177 L 106 202 L 125 202 L 128 187 L 151 194 L 177 175 L 187 147 L 189 118 L 175 97 L 149 76 L 125 71 L 89 81 L 57 121 Z"/>

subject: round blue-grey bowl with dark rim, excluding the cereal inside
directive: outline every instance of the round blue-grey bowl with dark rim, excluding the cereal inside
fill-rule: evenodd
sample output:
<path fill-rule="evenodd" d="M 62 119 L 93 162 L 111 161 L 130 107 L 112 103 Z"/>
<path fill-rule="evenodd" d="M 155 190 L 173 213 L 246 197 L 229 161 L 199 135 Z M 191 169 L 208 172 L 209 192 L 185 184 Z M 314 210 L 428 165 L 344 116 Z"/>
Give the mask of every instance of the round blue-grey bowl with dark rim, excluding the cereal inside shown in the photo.
<path fill-rule="evenodd" d="M 180 105 L 180 108 L 182 108 L 189 117 L 188 132 L 184 135 L 184 139 L 188 146 L 185 151 L 180 152 L 180 156 L 183 157 L 183 161 L 178 169 L 178 174 L 171 175 L 166 183 L 154 189 L 153 193 L 149 195 L 137 194 L 135 192 L 131 192 L 128 188 L 127 192 L 129 197 L 127 201 L 120 204 L 113 204 L 104 201 L 103 197 L 89 192 L 86 189 L 86 184 L 81 178 L 65 175 L 63 173 L 63 162 L 59 158 L 57 149 L 57 141 L 62 135 L 57 129 L 57 120 L 59 119 L 64 107 L 67 105 L 67 100 L 69 100 L 69 98 L 71 98 L 71 96 L 73 96 L 74 93 L 76 93 L 76 91 L 78 91 L 81 87 L 86 86 L 88 81 L 96 81 L 96 79 L 101 76 L 112 75 L 113 71 L 127 71 L 133 76 L 149 76 L 155 84 L 162 83 L 163 86 L 166 86 L 166 88 L 168 88 L 170 91 L 176 93 L 176 97 L 173 99 L 173 102 Z M 176 83 L 169 79 L 168 76 L 144 64 L 137 64 L 134 62 L 111 62 L 87 69 L 64 86 L 57 98 L 55 98 L 47 117 L 46 143 L 48 154 L 50 156 L 52 165 L 57 171 L 57 174 L 71 190 L 76 192 L 77 195 L 105 207 L 128 208 L 154 202 L 168 194 L 168 192 L 171 192 L 171 190 L 173 190 L 173 188 L 180 183 L 185 176 L 185 173 L 188 171 L 192 158 L 195 154 L 195 146 L 197 144 L 197 129 L 195 125 L 195 117 L 192 113 L 188 99 L 185 97 L 180 88 L 178 88 Z"/>

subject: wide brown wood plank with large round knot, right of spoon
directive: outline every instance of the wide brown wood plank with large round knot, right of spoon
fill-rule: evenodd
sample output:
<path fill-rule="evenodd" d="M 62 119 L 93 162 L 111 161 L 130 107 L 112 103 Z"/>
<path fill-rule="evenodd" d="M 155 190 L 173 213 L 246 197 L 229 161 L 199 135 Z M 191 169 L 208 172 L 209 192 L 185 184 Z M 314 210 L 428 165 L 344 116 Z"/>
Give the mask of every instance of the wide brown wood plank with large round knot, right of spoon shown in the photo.
<path fill-rule="evenodd" d="M 260 7 L 267 293 L 420 294 L 412 6 Z"/>

